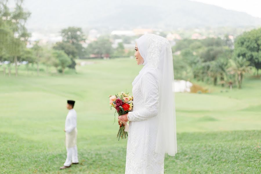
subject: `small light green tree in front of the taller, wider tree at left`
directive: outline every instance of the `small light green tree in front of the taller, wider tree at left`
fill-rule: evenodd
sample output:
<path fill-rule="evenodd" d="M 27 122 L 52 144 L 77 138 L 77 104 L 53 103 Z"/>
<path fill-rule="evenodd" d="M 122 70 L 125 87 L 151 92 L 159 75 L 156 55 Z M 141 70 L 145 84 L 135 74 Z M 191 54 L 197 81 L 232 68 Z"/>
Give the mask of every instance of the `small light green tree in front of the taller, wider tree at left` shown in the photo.
<path fill-rule="evenodd" d="M 59 61 L 59 66 L 61 66 L 62 73 L 64 74 L 64 69 L 72 63 L 70 57 L 68 57 L 68 55 L 62 50 L 54 50 L 53 56 L 56 57 L 57 60 Z"/>

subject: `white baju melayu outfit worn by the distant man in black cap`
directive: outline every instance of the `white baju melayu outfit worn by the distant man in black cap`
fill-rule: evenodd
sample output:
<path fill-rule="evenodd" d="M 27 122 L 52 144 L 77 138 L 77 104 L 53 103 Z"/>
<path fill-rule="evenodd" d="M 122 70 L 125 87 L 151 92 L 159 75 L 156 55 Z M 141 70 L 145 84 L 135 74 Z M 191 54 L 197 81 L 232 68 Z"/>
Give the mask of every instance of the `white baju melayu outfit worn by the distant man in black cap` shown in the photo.
<path fill-rule="evenodd" d="M 65 145 L 67 158 L 64 166 L 70 166 L 72 163 L 78 163 L 77 152 L 77 115 L 74 109 L 70 109 L 65 120 Z"/>

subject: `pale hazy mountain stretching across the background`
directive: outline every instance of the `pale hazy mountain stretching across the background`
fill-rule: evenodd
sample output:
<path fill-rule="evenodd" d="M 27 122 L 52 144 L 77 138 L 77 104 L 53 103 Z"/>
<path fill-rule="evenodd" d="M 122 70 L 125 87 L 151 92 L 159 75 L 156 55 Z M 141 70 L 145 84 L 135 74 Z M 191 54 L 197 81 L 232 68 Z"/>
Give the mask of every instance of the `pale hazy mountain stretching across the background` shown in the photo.
<path fill-rule="evenodd" d="M 29 28 L 261 26 L 261 18 L 188 0 L 24 0 Z"/>

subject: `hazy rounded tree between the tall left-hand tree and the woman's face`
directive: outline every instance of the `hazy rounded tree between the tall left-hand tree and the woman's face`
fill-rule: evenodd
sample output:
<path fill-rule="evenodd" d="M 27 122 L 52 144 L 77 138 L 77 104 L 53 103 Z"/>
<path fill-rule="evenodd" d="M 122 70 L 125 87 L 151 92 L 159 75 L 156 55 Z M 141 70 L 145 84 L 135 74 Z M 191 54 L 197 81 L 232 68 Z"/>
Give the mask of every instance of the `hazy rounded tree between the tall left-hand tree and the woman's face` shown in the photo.
<path fill-rule="evenodd" d="M 98 55 L 98 57 L 102 57 L 102 55 L 110 55 L 112 52 L 111 42 L 106 37 L 99 37 L 97 41 L 93 41 L 88 45 L 88 50 L 90 50 L 91 54 Z"/>

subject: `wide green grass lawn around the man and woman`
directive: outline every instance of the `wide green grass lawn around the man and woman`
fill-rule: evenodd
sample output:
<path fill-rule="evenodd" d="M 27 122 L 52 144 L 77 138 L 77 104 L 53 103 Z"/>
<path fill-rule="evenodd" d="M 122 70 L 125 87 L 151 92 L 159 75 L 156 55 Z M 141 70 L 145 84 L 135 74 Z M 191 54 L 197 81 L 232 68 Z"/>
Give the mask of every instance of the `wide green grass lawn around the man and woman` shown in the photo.
<path fill-rule="evenodd" d="M 116 139 L 108 95 L 131 92 L 141 66 L 91 61 L 65 75 L 46 75 L 44 66 L 39 77 L 24 66 L 18 77 L 13 67 L 11 77 L 0 70 L 0 173 L 124 173 L 127 141 Z M 165 173 L 260 173 L 261 79 L 228 92 L 199 84 L 211 93 L 176 93 L 178 153 L 166 155 Z M 80 164 L 60 171 L 67 99 L 76 100 Z"/>

